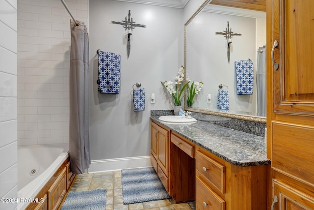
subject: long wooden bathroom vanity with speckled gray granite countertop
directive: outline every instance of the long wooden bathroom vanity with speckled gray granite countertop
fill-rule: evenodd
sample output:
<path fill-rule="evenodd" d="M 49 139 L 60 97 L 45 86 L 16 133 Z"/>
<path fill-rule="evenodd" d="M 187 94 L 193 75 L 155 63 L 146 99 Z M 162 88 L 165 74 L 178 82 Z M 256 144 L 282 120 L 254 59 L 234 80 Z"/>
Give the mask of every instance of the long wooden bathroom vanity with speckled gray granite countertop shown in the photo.
<path fill-rule="evenodd" d="M 151 162 L 175 203 L 266 209 L 270 160 L 263 137 L 202 120 L 165 123 L 151 116 Z"/>

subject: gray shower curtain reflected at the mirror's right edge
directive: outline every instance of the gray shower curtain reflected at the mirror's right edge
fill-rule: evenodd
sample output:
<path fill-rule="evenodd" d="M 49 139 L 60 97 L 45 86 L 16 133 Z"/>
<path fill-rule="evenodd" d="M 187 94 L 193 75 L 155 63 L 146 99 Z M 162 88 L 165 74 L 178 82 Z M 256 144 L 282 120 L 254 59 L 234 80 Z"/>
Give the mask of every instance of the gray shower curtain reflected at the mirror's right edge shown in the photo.
<path fill-rule="evenodd" d="M 266 116 L 266 45 L 260 47 L 257 56 L 257 115 Z"/>

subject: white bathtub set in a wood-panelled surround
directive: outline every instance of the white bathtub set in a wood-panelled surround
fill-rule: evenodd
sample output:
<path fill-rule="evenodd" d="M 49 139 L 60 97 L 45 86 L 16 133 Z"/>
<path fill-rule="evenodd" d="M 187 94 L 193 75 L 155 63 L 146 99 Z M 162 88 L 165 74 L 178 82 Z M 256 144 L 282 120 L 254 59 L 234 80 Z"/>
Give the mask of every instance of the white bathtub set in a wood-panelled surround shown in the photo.
<path fill-rule="evenodd" d="M 68 156 L 68 144 L 19 146 L 18 200 L 34 198 Z M 18 210 L 27 205 L 18 203 Z"/>

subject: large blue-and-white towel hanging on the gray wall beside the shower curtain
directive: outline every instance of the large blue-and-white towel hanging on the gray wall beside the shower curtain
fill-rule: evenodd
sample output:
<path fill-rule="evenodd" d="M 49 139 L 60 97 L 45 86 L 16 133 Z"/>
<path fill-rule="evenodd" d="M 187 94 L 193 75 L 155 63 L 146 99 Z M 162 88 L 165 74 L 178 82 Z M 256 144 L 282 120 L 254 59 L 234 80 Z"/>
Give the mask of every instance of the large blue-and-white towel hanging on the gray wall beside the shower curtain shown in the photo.
<path fill-rule="evenodd" d="M 98 91 L 101 93 L 119 94 L 120 60 L 115 53 L 98 52 Z"/>

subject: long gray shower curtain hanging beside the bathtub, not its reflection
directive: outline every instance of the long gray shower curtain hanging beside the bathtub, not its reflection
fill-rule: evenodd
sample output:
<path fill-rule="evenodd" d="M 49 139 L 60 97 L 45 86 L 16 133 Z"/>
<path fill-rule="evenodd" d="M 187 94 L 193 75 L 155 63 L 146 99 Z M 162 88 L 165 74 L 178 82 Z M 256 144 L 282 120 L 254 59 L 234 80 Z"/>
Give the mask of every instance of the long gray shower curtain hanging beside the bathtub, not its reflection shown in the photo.
<path fill-rule="evenodd" d="M 69 153 L 71 170 L 82 174 L 90 165 L 88 34 L 84 22 L 71 20 Z"/>

